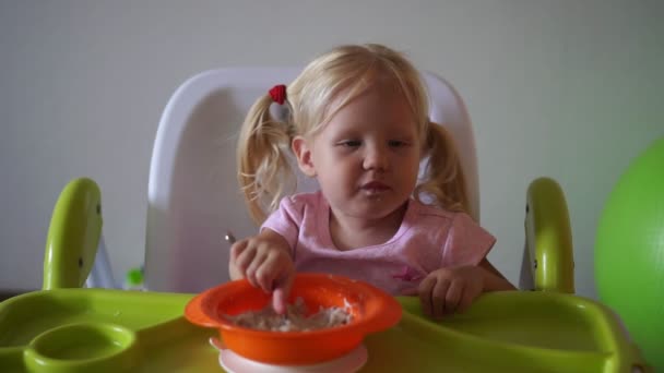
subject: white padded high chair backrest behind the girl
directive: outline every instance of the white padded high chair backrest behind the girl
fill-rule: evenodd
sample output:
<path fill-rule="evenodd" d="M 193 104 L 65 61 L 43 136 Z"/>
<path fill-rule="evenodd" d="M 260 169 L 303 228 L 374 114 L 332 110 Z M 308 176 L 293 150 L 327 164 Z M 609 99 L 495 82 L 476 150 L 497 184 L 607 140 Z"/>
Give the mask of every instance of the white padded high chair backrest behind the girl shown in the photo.
<path fill-rule="evenodd" d="M 236 143 L 249 107 L 300 69 L 221 69 L 182 84 L 157 129 L 150 166 L 145 287 L 198 292 L 228 280 L 229 244 L 254 234 L 236 177 Z M 451 132 L 466 177 L 471 215 L 479 219 L 477 160 L 465 105 L 454 88 L 423 73 L 431 121 Z M 424 164 L 424 161 L 423 161 Z M 317 188 L 298 173 L 298 192 Z"/>

